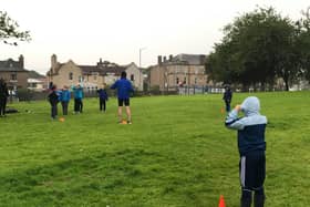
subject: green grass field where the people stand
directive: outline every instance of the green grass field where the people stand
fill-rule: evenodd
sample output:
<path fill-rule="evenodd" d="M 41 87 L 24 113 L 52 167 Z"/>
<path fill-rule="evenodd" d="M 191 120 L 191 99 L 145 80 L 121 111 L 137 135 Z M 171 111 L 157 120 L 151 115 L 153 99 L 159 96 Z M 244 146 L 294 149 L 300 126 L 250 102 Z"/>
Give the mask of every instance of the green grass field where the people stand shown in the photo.
<path fill-rule="evenodd" d="M 255 95 L 269 121 L 266 206 L 308 206 L 310 92 Z M 105 114 L 85 100 L 65 122 L 51 121 L 46 102 L 12 104 L 20 113 L 0 118 L 0 206 L 215 207 L 220 195 L 239 206 L 236 132 L 224 126 L 220 94 L 131 104 L 132 125 L 116 124 L 113 99 Z"/>

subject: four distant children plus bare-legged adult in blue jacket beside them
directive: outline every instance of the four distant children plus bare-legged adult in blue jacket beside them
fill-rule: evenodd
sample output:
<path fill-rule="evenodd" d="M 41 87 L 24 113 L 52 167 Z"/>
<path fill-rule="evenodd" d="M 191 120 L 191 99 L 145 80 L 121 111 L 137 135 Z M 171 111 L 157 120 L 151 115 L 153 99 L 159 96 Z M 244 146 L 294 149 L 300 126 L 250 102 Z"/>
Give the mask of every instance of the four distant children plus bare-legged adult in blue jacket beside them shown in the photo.
<path fill-rule="evenodd" d="M 100 111 L 106 111 L 106 101 L 108 100 L 106 93 L 106 84 L 103 84 L 103 87 L 97 90 L 97 95 L 100 100 Z M 79 114 L 83 112 L 83 86 L 78 84 L 72 86 L 73 97 L 74 97 L 74 114 Z M 112 86 L 112 90 L 117 90 L 117 100 L 118 100 L 118 123 L 123 123 L 123 105 L 125 105 L 126 114 L 127 114 L 127 124 L 132 124 L 132 113 L 130 107 L 130 94 L 134 92 L 132 83 L 126 79 L 126 72 L 123 71 L 121 73 L 121 79 L 117 80 Z M 51 85 L 49 93 L 49 102 L 51 104 L 51 117 L 55 120 L 58 116 L 58 103 L 61 102 L 63 115 L 68 115 L 68 106 L 71 100 L 71 91 L 66 85 L 63 86 L 62 90 L 58 90 L 55 85 Z"/>

